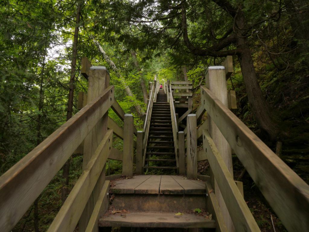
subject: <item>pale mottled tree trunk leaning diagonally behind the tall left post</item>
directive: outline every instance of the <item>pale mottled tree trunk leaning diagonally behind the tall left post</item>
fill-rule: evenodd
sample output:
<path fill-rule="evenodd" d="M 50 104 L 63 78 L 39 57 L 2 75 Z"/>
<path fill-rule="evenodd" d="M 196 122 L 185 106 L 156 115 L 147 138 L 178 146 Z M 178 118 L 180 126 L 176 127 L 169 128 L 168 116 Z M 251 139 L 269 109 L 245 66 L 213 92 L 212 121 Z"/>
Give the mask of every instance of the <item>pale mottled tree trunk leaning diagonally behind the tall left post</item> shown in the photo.
<path fill-rule="evenodd" d="M 98 46 L 99 51 L 102 53 L 103 58 L 105 59 L 105 61 L 111 66 L 112 70 L 116 73 L 116 75 L 120 78 L 120 81 L 122 83 L 122 85 L 125 87 L 125 92 L 127 93 L 128 96 L 132 97 L 133 99 L 135 99 L 135 97 L 132 94 L 132 91 L 130 89 L 130 87 L 127 85 L 127 83 L 125 82 L 125 78 L 121 75 L 120 70 L 117 68 L 117 66 L 115 65 L 115 63 L 109 58 L 109 56 L 105 53 L 105 51 L 103 50 L 103 48 L 101 47 L 101 45 L 99 44 L 98 41 L 93 40 L 93 42 Z M 133 99 L 130 99 L 130 102 L 134 102 Z M 135 104 L 134 105 L 138 115 L 140 117 L 142 117 L 144 110 L 142 109 L 142 107 L 139 104 Z"/>

